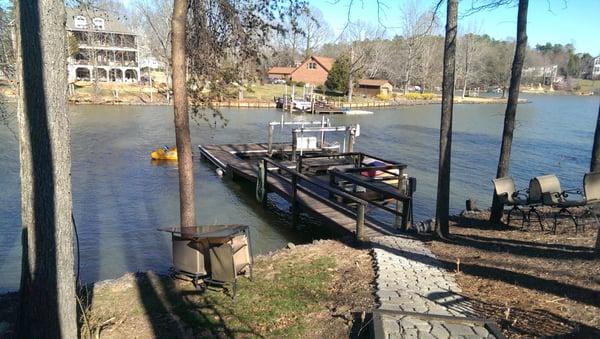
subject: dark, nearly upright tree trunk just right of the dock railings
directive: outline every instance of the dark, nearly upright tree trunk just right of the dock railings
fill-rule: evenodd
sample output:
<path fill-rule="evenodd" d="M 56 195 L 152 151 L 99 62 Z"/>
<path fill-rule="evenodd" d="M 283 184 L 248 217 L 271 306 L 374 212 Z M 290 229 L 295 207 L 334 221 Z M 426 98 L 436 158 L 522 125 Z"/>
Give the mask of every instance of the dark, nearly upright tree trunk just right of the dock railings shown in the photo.
<path fill-rule="evenodd" d="M 436 234 L 449 234 L 450 214 L 450 157 L 452 149 L 452 109 L 454 101 L 454 74 L 456 66 L 456 33 L 458 0 L 448 0 L 446 38 L 444 42 L 444 73 L 442 80 L 442 116 L 440 123 L 440 159 L 438 170 Z"/>

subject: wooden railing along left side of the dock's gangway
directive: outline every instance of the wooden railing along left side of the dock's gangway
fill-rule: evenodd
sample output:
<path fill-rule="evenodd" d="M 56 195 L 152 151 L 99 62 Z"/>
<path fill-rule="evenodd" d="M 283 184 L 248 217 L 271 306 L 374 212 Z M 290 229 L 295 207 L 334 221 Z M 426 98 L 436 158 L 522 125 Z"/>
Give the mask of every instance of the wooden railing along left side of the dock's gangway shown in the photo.
<path fill-rule="evenodd" d="M 299 204 L 298 204 L 298 191 L 301 191 L 301 192 L 309 195 L 310 197 L 320 201 L 321 203 L 328 205 L 328 206 L 332 207 L 333 209 L 335 209 L 347 216 L 354 218 L 356 220 L 356 239 L 358 241 L 364 240 L 365 210 L 366 210 L 366 206 L 368 204 L 367 201 L 360 199 L 358 197 L 355 197 L 351 194 L 348 194 L 337 188 L 331 187 L 331 186 L 329 186 L 323 182 L 320 182 L 318 180 L 315 180 L 311 177 L 308 177 L 308 176 L 296 171 L 293 168 L 288 168 L 288 167 L 281 165 L 280 163 L 277 163 L 269 158 L 263 158 L 262 161 L 263 161 L 263 166 L 264 166 L 263 167 L 264 168 L 264 171 L 263 171 L 264 177 L 262 178 L 262 182 L 263 182 L 263 185 L 265 185 L 265 187 L 264 187 L 265 193 L 263 195 L 263 199 L 266 199 L 266 197 L 267 197 L 266 192 L 267 192 L 269 175 L 280 179 L 282 182 L 289 183 L 289 185 L 290 185 L 290 202 L 292 204 L 292 224 L 296 225 L 298 223 L 298 218 L 300 215 L 300 209 L 299 209 Z M 268 165 L 271 165 L 272 167 L 276 167 L 277 171 L 276 172 L 269 171 Z M 290 175 L 291 178 L 287 178 L 287 177 L 283 176 L 282 174 L 280 174 L 280 172 L 284 172 L 284 173 Z M 335 202 L 334 200 L 330 200 L 330 199 L 318 194 L 317 192 L 311 190 L 308 187 L 301 185 L 301 183 L 303 181 L 310 185 L 314 185 L 314 186 L 318 187 L 319 189 L 325 190 L 325 191 L 329 192 L 330 194 L 334 194 L 334 195 L 342 197 L 343 199 L 351 201 L 352 203 L 356 204 L 356 211 L 352 210 L 351 208 L 349 208 L 346 205 L 342 205 L 342 204 Z"/>

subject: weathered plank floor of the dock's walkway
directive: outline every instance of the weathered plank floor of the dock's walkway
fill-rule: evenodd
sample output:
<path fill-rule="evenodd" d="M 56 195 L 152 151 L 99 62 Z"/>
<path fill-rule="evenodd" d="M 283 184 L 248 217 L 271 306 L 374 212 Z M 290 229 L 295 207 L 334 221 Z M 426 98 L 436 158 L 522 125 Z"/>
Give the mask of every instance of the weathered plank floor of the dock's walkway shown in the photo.
<path fill-rule="evenodd" d="M 225 144 L 225 145 L 201 145 L 199 146 L 202 157 L 221 168 L 233 177 L 241 177 L 256 183 L 258 169 L 249 161 L 241 159 L 238 154 L 264 154 L 266 156 L 268 144 Z M 274 144 L 274 149 L 291 151 L 289 144 Z M 283 163 L 285 164 L 285 162 Z M 295 166 L 290 165 L 290 168 Z M 314 179 L 317 181 L 318 179 Z M 287 201 L 292 201 L 292 180 L 281 175 L 269 175 L 265 187 L 268 192 L 274 192 Z M 342 204 L 333 204 L 332 201 L 315 192 L 313 185 L 298 184 L 301 189 L 296 192 L 296 201 L 300 209 L 316 216 L 324 218 L 329 224 L 345 232 L 355 233 L 357 216 L 353 215 L 348 207 Z M 365 217 L 364 238 L 365 240 L 382 236 L 396 234 L 396 228 Z"/>

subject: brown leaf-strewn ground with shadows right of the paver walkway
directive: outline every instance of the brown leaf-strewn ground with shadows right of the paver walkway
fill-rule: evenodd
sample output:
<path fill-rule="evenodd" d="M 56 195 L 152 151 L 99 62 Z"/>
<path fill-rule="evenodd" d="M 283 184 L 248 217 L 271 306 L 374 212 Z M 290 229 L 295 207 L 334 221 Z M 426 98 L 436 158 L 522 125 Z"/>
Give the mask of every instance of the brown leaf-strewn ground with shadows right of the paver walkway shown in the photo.
<path fill-rule="evenodd" d="M 600 258 L 597 227 L 557 234 L 533 225 L 490 225 L 487 212 L 454 219 L 447 241 L 429 243 L 456 272 L 465 297 L 510 338 L 600 337 Z M 519 223 L 517 226 L 516 224 Z"/>

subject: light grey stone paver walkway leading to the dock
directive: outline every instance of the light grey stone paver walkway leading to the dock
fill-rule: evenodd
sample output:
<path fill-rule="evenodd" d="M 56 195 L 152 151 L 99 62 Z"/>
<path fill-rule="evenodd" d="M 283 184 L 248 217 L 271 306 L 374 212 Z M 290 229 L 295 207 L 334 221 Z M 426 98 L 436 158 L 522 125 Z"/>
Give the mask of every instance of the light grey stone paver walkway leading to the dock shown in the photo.
<path fill-rule="evenodd" d="M 371 239 L 377 262 L 378 321 L 383 338 L 495 338 L 473 321 L 460 287 L 421 241 L 400 236 Z M 466 318 L 472 317 L 472 318 Z"/>

